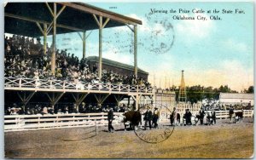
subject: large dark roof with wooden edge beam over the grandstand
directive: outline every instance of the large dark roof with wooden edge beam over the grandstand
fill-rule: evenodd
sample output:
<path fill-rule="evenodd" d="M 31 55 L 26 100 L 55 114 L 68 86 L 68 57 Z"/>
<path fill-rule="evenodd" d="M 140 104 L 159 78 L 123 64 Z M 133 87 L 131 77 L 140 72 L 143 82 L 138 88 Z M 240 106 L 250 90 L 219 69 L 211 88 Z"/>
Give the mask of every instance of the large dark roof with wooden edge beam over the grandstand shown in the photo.
<path fill-rule="evenodd" d="M 96 8 L 86 3 L 56 4 L 57 12 L 64 5 L 66 6 L 57 18 L 57 34 L 98 29 L 93 14 L 102 15 L 103 21 L 110 19 L 104 28 L 125 26 L 126 24 L 142 25 L 141 20 Z M 49 8 L 53 9 L 53 3 L 49 3 Z M 46 3 L 7 3 L 4 7 L 4 32 L 27 37 L 41 37 L 42 33 L 36 22 L 49 25 L 52 19 Z M 53 34 L 52 31 L 49 31 L 48 35 L 51 34 Z"/>

